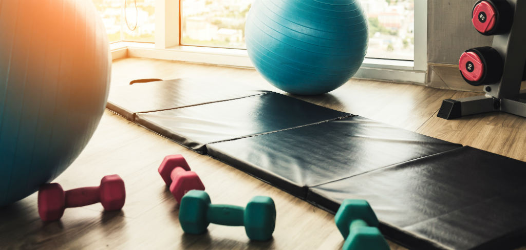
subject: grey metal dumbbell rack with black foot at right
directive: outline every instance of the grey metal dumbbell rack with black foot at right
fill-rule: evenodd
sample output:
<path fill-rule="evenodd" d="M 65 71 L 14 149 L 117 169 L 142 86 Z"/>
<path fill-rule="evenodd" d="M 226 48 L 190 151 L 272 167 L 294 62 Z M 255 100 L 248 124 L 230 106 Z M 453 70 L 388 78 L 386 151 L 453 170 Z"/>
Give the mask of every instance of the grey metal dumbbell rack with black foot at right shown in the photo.
<path fill-rule="evenodd" d="M 444 119 L 503 111 L 526 117 L 526 91 L 521 91 L 526 61 L 526 1 L 507 0 L 514 9 L 513 24 L 507 34 L 495 35 L 492 47 L 504 63 L 499 82 L 484 85 L 485 95 L 442 102 L 438 117 Z"/>

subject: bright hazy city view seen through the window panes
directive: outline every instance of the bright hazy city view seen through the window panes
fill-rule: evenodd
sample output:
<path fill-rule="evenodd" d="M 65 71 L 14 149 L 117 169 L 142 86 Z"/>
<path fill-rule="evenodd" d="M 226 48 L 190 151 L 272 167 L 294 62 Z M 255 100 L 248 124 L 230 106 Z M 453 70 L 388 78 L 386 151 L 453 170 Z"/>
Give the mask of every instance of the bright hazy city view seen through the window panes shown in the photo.
<path fill-rule="evenodd" d="M 181 44 L 245 49 L 245 21 L 253 1 L 181 0 Z M 155 0 L 93 2 L 110 41 L 154 42 Z M 361 0 L 361 5 L 369 20 L 367 57 L 413 60 L 414 0 Z"/>

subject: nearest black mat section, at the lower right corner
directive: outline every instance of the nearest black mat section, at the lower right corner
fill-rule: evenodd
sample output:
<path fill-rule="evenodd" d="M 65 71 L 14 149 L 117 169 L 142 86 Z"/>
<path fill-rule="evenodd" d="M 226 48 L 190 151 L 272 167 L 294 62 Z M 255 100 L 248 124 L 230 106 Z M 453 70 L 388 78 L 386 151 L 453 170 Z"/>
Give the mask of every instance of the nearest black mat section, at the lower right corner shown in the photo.
<path fill-rule="evenodd" d="M 366 199 L 386 236 L 414 249 L 509 249 L 526 242 L 526 162 L 462 147 L 309 189 L 332 212 Z"/>

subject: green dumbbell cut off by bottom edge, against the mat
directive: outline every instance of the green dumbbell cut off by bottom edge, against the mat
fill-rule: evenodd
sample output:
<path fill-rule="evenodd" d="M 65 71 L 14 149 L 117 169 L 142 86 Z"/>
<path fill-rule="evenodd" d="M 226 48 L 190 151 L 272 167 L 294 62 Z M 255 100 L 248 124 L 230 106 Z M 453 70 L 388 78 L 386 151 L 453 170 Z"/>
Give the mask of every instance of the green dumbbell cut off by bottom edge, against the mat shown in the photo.
<path fill-rule="evenodd" d="M 335 216 L 336 226 L 345 243 L 344 250 L 389 249 L 378 230 L 378 219 L 365 200 L 344 200 Z"/>

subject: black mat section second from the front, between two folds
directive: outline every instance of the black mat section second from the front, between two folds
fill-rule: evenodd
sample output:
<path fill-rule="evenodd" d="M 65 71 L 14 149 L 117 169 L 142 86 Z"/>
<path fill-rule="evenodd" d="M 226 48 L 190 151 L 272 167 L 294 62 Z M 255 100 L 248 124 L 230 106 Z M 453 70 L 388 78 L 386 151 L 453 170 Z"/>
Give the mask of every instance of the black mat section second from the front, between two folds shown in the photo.
<path fill-rule="evenodd" d="M 305 198 L 307 188 L 461 145 L 360 116 L 207 145 L 208 155 Z"/>

